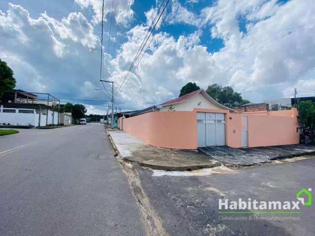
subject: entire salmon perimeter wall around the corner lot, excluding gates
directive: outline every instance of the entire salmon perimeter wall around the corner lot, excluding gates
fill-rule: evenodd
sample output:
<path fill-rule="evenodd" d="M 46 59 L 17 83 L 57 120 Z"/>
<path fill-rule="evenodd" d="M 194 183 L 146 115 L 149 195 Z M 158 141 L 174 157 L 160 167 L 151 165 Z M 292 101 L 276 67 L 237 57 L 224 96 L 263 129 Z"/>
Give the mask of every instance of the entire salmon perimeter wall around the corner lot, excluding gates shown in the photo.
<path fill-rule="evenodd" d="M 124 118 L 125 131 L 144 142 L 161 148 L 197 148 L 197 112 L 225 113 L 226 145 L 242 147 L 241 114 L 227 110 L 194 109 L 192 112 L 150 112 Z M 296 109 L 248 115 L 249 147 L 298 144 Z M 120 118 L 121 119 L 121 118 Z M 120 129 L 121 127 L 120 120 Z"/>

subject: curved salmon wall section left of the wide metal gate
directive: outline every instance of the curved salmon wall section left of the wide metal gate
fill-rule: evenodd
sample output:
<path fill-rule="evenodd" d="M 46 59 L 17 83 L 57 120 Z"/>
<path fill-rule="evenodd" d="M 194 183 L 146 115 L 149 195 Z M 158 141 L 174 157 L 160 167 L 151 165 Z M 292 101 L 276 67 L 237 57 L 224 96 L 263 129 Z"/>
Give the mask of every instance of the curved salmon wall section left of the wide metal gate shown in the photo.
<path fill-rule="evenodd" d="M 161 148 L 196 149 L 197 118 L 194 112 L 150 112 L 125 118 L 125 131 Z"/>

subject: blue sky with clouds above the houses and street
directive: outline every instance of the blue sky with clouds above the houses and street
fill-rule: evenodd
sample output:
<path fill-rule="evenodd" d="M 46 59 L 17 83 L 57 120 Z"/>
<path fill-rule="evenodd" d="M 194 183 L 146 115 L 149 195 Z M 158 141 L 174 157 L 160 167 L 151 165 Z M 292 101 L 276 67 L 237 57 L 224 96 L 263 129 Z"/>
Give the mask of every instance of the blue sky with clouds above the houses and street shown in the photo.
<path fill-rule="evenodd" d="M 104 1 L 101 78 L 116 93 L 161 0 L 112 2 Z M 102 0 L 1 0 L 0 59 L 16 88 L 104 114 L 110 99 L 95 90 L 103 89 L 101 9 Z M 294 88 L 315 95 L 306 93 L 315 91 L 314 0 L 177 0 L 165 16 L 117 93 L 117 110 L 173 99 L 188 82 L 231 86 L 252 102 L 292 97 Z"/>

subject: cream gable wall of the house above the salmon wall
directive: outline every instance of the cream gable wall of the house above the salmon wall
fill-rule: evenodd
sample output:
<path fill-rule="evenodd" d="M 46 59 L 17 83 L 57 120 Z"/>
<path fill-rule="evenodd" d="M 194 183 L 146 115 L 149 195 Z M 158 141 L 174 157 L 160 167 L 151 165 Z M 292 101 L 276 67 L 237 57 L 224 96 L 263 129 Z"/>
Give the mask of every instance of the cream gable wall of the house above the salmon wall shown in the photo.
<path fill-rule="evenodd" d="M 200 105 L 198 105 L 200 103 Z M 222 108 L 210 102 L 206 99 L 201 93 L 194 95 L 185 102 L 181 102 L 175 105 L 172 105 L 175 108 L 175 111 L 189 111 L 191 112 L 194 108 L 202 109 L 214 109 L 222 110 Z M 166 112 L 169 108 L 169 105 L 166 105 L 159 109 L 160 112 Z"/>

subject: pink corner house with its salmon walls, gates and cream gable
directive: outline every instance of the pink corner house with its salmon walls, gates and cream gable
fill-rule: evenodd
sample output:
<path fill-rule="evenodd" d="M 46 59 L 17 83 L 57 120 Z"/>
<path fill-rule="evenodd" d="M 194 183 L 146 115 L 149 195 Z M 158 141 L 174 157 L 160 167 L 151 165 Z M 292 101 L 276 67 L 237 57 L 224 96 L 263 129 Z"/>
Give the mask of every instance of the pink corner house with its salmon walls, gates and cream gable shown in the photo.
<path fill-rule="evenodd" d="M 119 128 L 161 148 L 299 143 L 297 110 L 236 113 L 203 89 L 119 118 Z"/>

